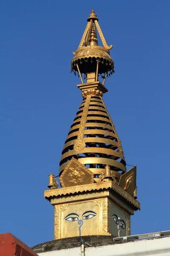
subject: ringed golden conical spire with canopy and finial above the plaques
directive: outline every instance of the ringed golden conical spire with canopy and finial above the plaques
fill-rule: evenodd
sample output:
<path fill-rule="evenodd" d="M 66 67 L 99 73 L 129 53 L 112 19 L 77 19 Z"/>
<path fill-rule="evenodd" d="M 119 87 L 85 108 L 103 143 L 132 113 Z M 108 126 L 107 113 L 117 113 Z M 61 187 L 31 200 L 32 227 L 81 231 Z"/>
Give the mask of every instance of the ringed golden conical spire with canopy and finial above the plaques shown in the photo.
<path fill-rule="evenodd" d="M 98 45 L 96 30 L 105 47 Z M 83 101 L 65 141 L 60 174 L 72 157 L 79 159 L 95 177 L 105 173 L 107 164 L 118 179 L 120 172 L 126 172 L 122 145 L 102 99 L 103 93 L 108 91 L 104 86 L 108 72 L 114 72 L 113 60 L 108 50 L 111 47 L 106 44 L 98 18 L 92 9 L 79 48 L 71 61 L 72 70 L 79 73 L 82 81 L 77 86 L 82 90 Z M 86 76 L 86 83 L 82 80 L 82 73 Z M 102 83 L 99 81 L 99 74 L 104 74 Z"/>

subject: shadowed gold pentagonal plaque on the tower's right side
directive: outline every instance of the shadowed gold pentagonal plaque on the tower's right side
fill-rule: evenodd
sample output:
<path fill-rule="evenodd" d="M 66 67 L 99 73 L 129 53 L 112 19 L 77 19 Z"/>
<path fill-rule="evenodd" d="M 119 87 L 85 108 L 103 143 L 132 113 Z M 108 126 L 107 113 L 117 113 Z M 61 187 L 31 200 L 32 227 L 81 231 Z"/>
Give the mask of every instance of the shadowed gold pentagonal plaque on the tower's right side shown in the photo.
<path fill-rule="evenodd" d="M 120 177 L 119 186 L 133 196 L 136 189 L 136 166 Z"/>

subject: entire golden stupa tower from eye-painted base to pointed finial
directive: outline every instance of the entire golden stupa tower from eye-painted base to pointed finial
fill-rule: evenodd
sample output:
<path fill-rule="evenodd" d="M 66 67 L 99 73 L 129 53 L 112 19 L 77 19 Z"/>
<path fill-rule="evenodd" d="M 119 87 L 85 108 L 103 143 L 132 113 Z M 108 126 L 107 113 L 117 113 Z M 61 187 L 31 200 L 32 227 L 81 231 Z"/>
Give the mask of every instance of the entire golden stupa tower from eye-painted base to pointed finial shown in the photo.
<path fill-rule="evenodd" d="M 97 34 L 103 46 L 98 45 Z M 121 142 L 102 96 L 114 63 L 94 9 L 71 62 L 82 104 L 62 150 L 59 180 L 51 173 L 45 198 L 54 205 L 54 238 L 130 235 L 136 201 L 136 166 L 126 170 Z M 82 79 L 85 75 L 86 81 Z M 101 77 L 102 81 L 99 81 Z"/>

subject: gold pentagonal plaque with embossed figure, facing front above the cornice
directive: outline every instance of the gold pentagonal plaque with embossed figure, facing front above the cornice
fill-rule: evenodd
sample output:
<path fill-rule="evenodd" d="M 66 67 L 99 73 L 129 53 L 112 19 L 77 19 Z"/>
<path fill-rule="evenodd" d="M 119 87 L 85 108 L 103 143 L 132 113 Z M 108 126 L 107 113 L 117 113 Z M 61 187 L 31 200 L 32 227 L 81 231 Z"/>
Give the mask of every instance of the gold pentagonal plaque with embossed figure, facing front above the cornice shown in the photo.
<path fill-rule="evenodd" d="M 60 175 L 59 181 L 62 187 L 89 184 L 94 182 L 94 175 L 93 172 L 72 157 Z"/>

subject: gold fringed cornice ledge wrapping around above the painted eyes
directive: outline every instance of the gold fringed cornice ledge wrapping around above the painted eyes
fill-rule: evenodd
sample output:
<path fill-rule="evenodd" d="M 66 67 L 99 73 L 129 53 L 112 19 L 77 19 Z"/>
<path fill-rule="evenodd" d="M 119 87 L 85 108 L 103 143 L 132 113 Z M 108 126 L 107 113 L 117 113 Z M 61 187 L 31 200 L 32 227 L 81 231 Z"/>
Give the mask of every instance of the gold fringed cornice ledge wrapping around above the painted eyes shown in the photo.
<path fill-rule="evenodd" d="M 99 190 L 99 189 L 113 189 L 117 194 L 122 196 L 127 202 L 132 204 L 136 209 L 140 209 L 140 203 L 130 196 L 124 189 L 113 183 L 111 180 L 107 180 L 101 183 L 91 183 L 79 186 L 65 187 L 61 189 L 45 190 L 44 197 L 50 199 L 51 197 L 57 197 L 62 195 L 71 195 L 75 193 Z"/>

